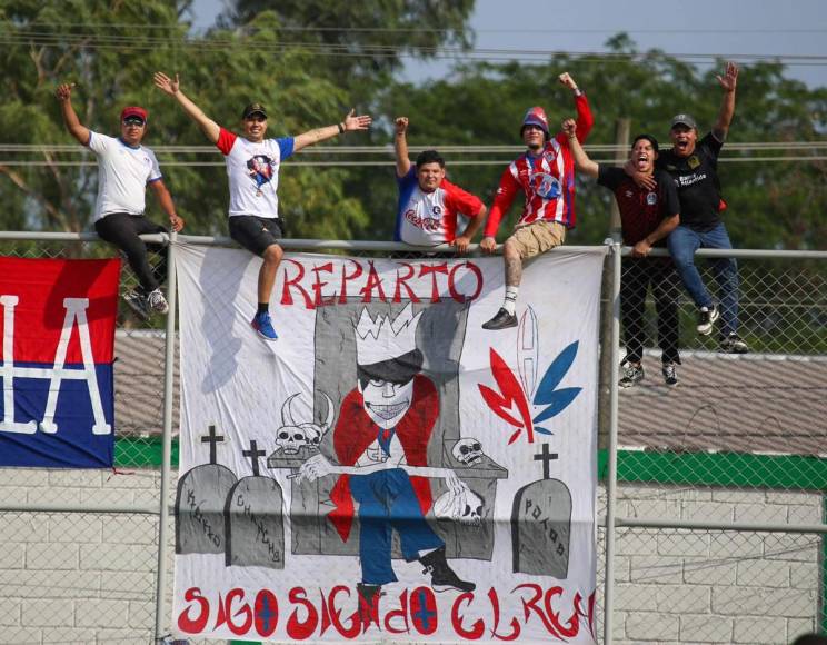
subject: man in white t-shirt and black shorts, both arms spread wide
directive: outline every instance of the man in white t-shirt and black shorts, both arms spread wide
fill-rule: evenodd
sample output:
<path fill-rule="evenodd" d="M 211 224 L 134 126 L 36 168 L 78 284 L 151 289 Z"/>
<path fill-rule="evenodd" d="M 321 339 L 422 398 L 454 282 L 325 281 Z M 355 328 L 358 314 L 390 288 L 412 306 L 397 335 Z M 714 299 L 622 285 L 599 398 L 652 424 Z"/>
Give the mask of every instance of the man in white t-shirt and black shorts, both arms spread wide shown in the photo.
<path fill-rule="evenodd" d="M 351 110 L 343 121 L 335 126 L 317 128 L 296 137 L 265 139 L 267 110 L 261 103 L 250 103 L 241 113 L 242 136 L 239 137 L 207 117 L 181 91 L 178 75 L 172 80 L 162 72 L 156 72 L 155 83 L 180 103 L 225 156 L 230 182 L 230 237 L 263 260 L 258 276 L 258 310 L 250 325 L 263 339 L 276 340 L 278 335 L 270 320 L 269 302 L 283 255 L 278 244 L 283 236 L 277 195 L 281 161 L 302 148 L 348 130 L 367 130 L 371 118 L 357 117 Z"/>

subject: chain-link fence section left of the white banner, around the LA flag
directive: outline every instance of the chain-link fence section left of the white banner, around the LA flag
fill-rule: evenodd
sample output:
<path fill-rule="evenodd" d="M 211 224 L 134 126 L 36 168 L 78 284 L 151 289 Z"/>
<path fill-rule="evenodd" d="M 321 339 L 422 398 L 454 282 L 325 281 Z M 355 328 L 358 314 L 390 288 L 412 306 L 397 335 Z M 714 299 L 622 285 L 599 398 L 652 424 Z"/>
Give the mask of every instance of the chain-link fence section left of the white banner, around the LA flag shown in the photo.
<path fill-rule="evenodd" d="M 3 239 L 0 255 L 112 255 L 96 236 L 84 237 L 89 241 Z M 126 262 L 121 282 L 121 292 L 137 285 Z M 0 472 L 0 643 L 153 642 L 163 324 L 161 317 L 140 319 L 120 299 L 113 470 Z"/>

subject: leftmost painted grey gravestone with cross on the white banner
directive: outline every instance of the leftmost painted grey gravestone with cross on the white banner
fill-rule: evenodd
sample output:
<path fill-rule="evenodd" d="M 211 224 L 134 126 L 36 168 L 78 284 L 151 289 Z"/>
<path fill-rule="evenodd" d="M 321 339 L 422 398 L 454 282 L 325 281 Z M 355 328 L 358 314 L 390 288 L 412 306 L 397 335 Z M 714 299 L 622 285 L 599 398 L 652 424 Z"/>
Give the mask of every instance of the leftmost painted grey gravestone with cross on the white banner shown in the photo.
<path fill-rule="evenodd" d="M 188 470 L 178 480 L 176 493 L 176 553 L 225 553 L 225 505 L 236 484 L 236 475 L 217 464 L 218 444 L 223 436 L 210 426 L 201 437 L 209 444 L 210 462 Z"/>

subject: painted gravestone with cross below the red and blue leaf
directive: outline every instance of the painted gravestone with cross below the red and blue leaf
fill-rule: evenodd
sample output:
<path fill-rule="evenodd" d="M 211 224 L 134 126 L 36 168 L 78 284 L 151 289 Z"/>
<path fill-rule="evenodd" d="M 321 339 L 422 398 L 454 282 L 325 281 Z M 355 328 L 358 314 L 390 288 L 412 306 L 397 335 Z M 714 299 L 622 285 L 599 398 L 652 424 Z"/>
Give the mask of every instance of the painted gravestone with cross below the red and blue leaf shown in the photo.
<path fill-rule="evenodd" d="M 550 464 L 557 459 L 548 444 L 535 455 L 542 462 L 542 479 L 517 492 L 511 509 L 514 572 L 565 579 L 568 576 L 571 533 L 571 492 L 551 479 Z"/>

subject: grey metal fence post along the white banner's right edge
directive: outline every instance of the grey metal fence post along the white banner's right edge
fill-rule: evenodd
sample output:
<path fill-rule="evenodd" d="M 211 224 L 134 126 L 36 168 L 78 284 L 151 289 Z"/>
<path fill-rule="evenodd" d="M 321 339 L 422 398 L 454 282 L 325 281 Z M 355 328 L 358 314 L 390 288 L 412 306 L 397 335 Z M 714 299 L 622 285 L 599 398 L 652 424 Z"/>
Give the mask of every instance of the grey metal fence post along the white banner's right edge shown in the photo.
<path fill-rule="evenodd" d="M 604 645 L 611 645 L 611 612 L 615 588 L 615 506 L 617 496 L 617 429 L 620 358 L 620 244 L 611 245 L 611 338 L 609 356 L 609 454 L 606 474 L 606 575 L 604 579 Z M 606 343 L 604 338 L 604 343 Z M 605 345 L 604 345 L 605 347 Z"/>

